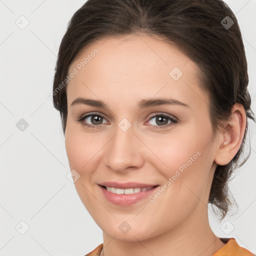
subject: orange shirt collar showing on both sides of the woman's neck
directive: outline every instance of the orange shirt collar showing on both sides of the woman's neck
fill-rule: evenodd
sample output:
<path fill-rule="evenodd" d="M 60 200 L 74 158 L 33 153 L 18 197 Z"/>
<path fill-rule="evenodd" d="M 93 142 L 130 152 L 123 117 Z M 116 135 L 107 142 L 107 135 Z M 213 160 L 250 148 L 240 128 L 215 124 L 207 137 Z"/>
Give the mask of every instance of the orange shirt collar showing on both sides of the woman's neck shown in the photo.
<path fill-rule="evenodd" d="M 217 250 L 212 256 L 256 256 L 247 249 L 240 247 L 234 238 L 220 238 L 225 245 Z M 94 250 L 85 256 L 98 256 L 103 248 L 103 243 L 100 243 Z"/>

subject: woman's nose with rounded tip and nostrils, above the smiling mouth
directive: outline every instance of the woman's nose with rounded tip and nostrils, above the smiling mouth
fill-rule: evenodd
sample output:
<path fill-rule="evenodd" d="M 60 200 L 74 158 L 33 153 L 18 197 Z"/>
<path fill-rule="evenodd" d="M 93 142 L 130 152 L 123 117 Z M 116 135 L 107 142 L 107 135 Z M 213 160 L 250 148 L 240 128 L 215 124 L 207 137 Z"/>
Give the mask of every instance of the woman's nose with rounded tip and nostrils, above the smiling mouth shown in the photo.
<path fill-rule="evenodd" d="M 126 131 L 117 125 L 114 136 L 104 148 L 104 164 L 112 171 L 123 172 L 143 165 L 145 146 L 132 125 Z"/>

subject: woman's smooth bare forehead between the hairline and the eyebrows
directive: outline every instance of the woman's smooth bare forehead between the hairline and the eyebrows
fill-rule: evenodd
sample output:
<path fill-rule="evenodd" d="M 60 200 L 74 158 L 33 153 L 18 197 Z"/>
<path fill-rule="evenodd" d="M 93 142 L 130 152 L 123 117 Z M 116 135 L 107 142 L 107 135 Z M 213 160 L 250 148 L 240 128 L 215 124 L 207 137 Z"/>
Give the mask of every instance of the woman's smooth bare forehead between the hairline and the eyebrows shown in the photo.
<path fill-rule="evenodd" d="M 68 73 L 75 68 L 77 74 L 68 82 L 67 94 L 72 98 L 93 95 L 91 88 L 101 98 L 115 93 L 120 98 L 123 94 L 123 99 L 139 99 L 142 92 L 144 97 L 157 93 L 197 101 L 205 98 L 198 87 L 197 65 L 160 39 L 139 34 L 110 36 L 91 43 L 69 66 Z"/>

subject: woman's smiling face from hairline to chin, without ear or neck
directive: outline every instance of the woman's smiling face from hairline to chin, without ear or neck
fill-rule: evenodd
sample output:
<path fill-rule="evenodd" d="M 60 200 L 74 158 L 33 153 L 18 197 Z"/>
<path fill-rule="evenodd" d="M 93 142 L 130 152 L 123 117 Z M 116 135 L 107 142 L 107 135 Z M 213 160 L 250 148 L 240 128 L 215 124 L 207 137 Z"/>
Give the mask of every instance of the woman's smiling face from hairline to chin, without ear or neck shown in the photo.
<path fill-rule="evenodd" d="M 147 35 L 98 40 L 69 66 L 70 170 L 81 201 L 108 235 L 136 241 L 181 234 L 206 219 L 217 147 L 197 71 L 177 48 Z M 91 101 L 72 104 L 78 97 Z M 108 181 L 158 187 L 137 199 L 133 190 L 118 195 L 99 185 Z"/>

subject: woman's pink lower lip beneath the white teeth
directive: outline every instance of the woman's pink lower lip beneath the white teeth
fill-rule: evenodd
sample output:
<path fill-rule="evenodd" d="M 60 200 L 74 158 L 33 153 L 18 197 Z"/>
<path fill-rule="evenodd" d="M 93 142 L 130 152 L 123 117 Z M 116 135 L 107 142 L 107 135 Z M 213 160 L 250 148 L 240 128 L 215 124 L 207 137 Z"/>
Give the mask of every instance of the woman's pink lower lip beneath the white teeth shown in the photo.
<path fill-rule="evenodd" d="M 111 203 L 118 204 L 121 206 L 129 206 L 148 197 L 151 193 L 153 193 L 156 190 L 158 186 L 155 186 L 146 191 L 140 191 L 138 193 L 133 193 L 133 194 L 116 194 L 116 193 L 107 191 L 101 185 L 99 185 L 99 187 L 103 192 L 105 198 Z"/>

